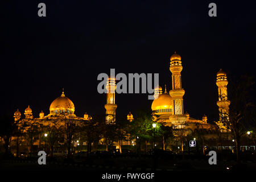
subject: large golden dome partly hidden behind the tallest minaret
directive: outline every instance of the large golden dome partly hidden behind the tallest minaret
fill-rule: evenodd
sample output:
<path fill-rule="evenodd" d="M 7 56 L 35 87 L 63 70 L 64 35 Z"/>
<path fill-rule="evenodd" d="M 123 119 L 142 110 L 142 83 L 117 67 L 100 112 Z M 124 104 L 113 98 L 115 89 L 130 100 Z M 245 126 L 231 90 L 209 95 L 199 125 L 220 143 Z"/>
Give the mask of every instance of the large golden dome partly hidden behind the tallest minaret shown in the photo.
<path fill-rule="evenodd" d="M 172 97 L 168 93 L 163 93 L 156 98 L 151 105 L 152 110 L 172 109 Z"/>

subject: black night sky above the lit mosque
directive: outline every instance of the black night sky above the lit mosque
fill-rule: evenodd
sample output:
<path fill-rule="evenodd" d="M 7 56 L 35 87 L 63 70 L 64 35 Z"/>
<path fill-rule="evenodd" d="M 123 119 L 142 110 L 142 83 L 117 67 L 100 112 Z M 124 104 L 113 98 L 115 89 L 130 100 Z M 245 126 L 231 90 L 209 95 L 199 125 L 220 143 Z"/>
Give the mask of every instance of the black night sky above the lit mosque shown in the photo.
<path fill-rule="evenodd" d="M 38 16 L 40 2 L 46 18 Z M 208 16 L 210 2 L 217 17 Z M 104 114 L 99 73 L 159 73 L 160 85 L 170 90 L 170 56 L 177 51 L 184 111 L 212 122 L 216 72 L 255 75 L 253 1 L 6 1 L 1 14 L 2 114 L 23 113 L 28 105 L 35 117 L 48 114 L 62 88 L 75 114 Z M 118 94 L 117 117 L 150 110 L 147 95 Z"/>

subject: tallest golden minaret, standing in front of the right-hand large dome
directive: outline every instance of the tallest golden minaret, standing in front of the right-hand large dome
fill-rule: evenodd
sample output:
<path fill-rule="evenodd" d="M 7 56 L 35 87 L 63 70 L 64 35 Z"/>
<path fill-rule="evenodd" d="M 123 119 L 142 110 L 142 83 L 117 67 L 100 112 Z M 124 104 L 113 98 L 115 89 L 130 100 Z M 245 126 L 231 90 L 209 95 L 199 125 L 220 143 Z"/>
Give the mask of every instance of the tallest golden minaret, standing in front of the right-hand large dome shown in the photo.
<path fill-rule="evenodd" d="M 183 96 L 185 90 L 181 88 L 181 75 L 182 71 L 181 57 L 174 52 L 174 55 L 170 58 L 170 71 L 172 72 L 172 90 L 170 90 L 170 96 L 174 101 L 174 114 L 183 115 Z"/>

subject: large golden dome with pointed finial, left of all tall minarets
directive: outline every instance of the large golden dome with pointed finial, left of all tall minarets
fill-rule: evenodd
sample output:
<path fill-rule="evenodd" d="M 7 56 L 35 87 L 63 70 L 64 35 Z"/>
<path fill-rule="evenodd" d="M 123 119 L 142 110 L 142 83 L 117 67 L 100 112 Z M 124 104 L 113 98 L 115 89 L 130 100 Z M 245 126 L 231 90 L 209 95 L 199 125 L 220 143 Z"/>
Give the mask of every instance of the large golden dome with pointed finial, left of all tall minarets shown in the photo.
<path fill-rule="evenodd" d="M 56 98 L 49 107 L 51 114 L 56 113 L 69 113 L 73 114 L 75 111 L 75 105 L 73 102 L 64 95 L 64 90 L 60 97 Z"/>

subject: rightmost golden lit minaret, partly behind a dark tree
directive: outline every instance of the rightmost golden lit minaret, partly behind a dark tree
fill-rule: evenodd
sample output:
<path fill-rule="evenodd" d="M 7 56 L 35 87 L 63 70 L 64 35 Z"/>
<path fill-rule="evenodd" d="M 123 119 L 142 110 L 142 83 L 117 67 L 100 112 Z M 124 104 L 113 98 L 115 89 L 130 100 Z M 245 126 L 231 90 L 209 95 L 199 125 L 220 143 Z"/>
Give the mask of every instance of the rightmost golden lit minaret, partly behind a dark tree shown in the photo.
<path fill-rule="evenodd" d="M 228 118 L 229 113 L 229 105 L 230 101 L 228 100 L 228 89 L 226 88 L 226 85 L 228 85 L 228 80 L 226 77 L 226 73 L 220 69 L 220 71 L 217 72 L 217 81 L 216 85 L 218 86 L 218 110 L 220 113 L 220 122 L 222 122 L 222 119 Z"/>

